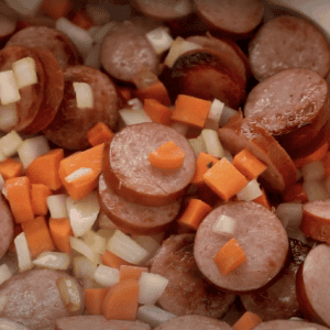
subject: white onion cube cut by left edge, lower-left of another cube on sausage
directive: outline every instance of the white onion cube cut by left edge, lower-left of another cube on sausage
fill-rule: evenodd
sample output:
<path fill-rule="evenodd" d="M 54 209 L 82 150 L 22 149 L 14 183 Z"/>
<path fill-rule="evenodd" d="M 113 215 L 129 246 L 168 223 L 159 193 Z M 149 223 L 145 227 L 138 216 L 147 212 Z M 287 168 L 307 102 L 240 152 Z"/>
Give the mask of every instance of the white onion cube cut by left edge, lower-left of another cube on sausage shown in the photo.
<path fill-rule="evenodd" d="M 0 73 L 0 98 L 3 106 L 21 99 L 13 70 Z"/>

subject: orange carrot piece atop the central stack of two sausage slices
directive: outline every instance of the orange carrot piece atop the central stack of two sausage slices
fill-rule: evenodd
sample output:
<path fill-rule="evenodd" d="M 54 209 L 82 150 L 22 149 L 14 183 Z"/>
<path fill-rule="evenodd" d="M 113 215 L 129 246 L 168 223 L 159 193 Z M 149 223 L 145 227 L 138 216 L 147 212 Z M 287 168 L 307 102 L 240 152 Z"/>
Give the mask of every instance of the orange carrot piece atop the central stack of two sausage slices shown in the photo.
<path fill-rule="evenodd" d="M 185 153 L 174 141 L 168 141 L 148 154 L 152 166 L 162 169 L 180 168 L 185 161 Z"/>

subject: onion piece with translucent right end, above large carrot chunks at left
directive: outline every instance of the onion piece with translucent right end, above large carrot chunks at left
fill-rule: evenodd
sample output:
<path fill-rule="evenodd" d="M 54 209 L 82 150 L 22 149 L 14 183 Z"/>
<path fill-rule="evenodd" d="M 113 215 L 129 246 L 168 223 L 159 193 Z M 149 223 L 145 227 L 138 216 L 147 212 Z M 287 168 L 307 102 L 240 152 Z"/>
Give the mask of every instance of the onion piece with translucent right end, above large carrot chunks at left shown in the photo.
<path fill-rule="evenodd" d="M 35 158 L 43 156 L 50 151 L 48 140 L 43 135 L 24 140 L 18 148 L 24 168 L 28 168 Z"/>

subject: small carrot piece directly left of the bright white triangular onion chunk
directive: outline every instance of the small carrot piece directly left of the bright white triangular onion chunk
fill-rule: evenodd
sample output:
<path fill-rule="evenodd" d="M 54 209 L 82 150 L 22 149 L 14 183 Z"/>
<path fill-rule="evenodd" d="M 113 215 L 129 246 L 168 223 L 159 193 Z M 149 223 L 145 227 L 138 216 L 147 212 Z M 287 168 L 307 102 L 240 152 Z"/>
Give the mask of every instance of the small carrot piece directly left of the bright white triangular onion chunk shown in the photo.
<path fill-rule="evenodd" d="M 59 252 L 72 252 L 70 238 L 74 232 L 68 218 L 51 218 L 50 232 Z"/>

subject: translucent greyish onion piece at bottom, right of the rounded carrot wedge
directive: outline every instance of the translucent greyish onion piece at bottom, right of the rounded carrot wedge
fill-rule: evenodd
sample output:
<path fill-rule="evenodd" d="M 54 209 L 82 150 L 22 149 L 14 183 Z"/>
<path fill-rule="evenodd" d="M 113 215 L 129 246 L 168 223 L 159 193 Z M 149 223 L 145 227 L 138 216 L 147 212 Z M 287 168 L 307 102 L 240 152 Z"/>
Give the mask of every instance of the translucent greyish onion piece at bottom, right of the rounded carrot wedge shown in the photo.
<path fill-rule="evenodd" d="M 155 305 L 143 305 L 139 307 L 136 318 L 152 327 L 152 329 L 161 326 L 162 323 L 175 318 L 176 315 L 166 311 Z"/>

